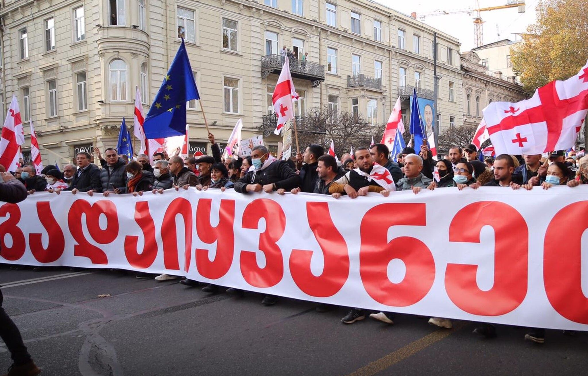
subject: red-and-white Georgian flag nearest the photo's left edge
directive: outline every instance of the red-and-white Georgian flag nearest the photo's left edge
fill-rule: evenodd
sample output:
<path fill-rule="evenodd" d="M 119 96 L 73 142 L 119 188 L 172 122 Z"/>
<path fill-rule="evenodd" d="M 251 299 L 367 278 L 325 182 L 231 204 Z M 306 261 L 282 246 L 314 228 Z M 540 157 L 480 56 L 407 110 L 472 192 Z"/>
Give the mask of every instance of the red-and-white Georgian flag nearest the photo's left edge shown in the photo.
<path fill-rule="evenodd" d="M 18 159 L 21 156 L 20 146 L 24 143 L 25 133 L 22 129 L 21 111 L 18 109 L 16 96 L 12 96 L 0 136 L 0 164 L 6 168 L 6 171 L 15 171 L 18 167 Z"/>

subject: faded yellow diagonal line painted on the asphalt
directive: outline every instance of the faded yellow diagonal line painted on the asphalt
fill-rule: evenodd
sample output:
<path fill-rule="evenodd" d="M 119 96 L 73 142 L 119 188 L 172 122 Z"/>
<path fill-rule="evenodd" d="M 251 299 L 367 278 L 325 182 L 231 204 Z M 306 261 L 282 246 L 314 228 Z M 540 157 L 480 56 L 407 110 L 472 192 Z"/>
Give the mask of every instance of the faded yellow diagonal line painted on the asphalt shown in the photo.
<path fill-rule="evenodd" d="M 415 355 L 419 351 L 424 350 L 437 341 L 440 341 L 452 333 L 455 333 L 456 331 L 466 327 L 467 324 L 469 324 L 467 321 L 456 321 L 452 330 L 436 330 L 433 333 L 425 335 L 425 337 L 419 338 L 418 340 L 413 341 L 406 346 L 401 347 L 398 350 L 369 363 L 368 365 L 365 365 L 365 367 L 359 368 L 359 370 L 352 372 L 347 376 L 371 376 L 377 374 L 378 372 L 382 372 L 397 362 L 405 360 L 408 357 L 412 357 L 412 355 Z"/>

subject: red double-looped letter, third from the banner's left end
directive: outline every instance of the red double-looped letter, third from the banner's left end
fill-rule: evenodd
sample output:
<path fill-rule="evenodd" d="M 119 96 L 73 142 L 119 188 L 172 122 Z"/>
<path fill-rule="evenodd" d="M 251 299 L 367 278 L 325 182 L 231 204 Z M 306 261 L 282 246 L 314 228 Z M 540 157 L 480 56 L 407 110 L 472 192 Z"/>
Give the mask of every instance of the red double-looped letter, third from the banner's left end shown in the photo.
<path fill-rule="evenodd" d="M 83 222 L 88 227 L 88 233 L 96 243 L 112 243 L 118 236 L 118 215 L 115 204 L 109 200 L 99 200 L 90 205 L 86 200 L 75 200 L 68 213 L 69 232 L 78 242 L 74 245 L 74 256 L 88 257 L 92 264 L 108 264 L 106 253 L 86 240 L 82 229 L 82 214 L 86 216 Z M 104 230 L 98 224 L 101 214 L 106 216 Z"/>

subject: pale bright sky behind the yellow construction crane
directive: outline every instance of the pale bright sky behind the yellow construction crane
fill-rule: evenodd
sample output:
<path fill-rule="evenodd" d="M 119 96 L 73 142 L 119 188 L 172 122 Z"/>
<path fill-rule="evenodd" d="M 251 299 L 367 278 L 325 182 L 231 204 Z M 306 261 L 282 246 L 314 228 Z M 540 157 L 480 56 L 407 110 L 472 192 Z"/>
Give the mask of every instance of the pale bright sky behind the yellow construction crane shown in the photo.
<path fill-rule="evenodd" d="M 396 9 L 404 14 L 410 15 L 416 12 L 417 19 L 419 14 L 430 14 L 439 11 L 459 11 L 463 9 L 476 9 L 477 3 L 480 8 L 489 6 L 498 6 L 507 4 L 508 0 L 414 0 L 414 1 L 397 1 L 397 0 L 374 0 L 389 8 Z M 519 13 L 517 8 L 499 9 L 497 11 L 482 12 L 482 20 L 485 21 L 484 44 L 500 41 L 501 39 L 515 40 L 513 33 L 526 32 L 527 26 L 534 24 L 535 6 L 538 0 L 526 0 L 526 12 Z M 423 22 L 433 26 L 440 31 L 455 36 L 462 43 L 460 52 L 469 51 L 474 47 L 474 25 L 473 16 L 467 13 L 443 16 L 428 16 Z M 498 26 L 496 26 L 498 25 Z M 497 29 L 500 37 L 497 35 Z"/>

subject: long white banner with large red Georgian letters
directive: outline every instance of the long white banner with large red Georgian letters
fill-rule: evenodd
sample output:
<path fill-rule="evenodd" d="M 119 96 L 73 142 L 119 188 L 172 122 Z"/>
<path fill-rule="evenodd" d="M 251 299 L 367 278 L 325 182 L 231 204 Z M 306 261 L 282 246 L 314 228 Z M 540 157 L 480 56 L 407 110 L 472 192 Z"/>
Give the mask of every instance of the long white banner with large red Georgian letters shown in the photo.
<path fill-rule="evenodd" d="M 588 187 L 317 194 L 35 193 L 0 261 L 188 276 L 302 300 L 588 330 Z"/>

